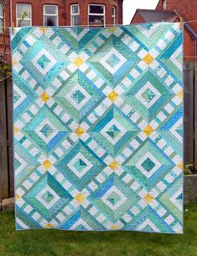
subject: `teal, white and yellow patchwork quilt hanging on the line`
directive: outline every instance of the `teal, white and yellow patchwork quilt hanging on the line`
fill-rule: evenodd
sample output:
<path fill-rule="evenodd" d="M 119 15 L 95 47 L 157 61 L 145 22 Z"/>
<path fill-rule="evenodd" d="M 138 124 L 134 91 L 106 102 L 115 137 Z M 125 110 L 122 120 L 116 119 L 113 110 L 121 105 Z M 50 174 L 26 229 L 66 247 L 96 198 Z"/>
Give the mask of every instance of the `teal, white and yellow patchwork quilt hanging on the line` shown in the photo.
<path fill-rule="evenodd" d="M 10 35 L 16 228 L 182 233 L 179 24 Z"/>

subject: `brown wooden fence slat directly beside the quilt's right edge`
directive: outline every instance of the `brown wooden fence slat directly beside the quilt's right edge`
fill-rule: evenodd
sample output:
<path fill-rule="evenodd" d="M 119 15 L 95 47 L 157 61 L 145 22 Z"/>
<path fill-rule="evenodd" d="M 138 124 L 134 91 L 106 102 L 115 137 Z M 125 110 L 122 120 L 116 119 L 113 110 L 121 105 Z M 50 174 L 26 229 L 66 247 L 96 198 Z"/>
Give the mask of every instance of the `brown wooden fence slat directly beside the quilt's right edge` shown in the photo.
<path fill-rule="evenodd" d="M 184 62 L 184 164 L 194 163 L 194 62 Z"/>

